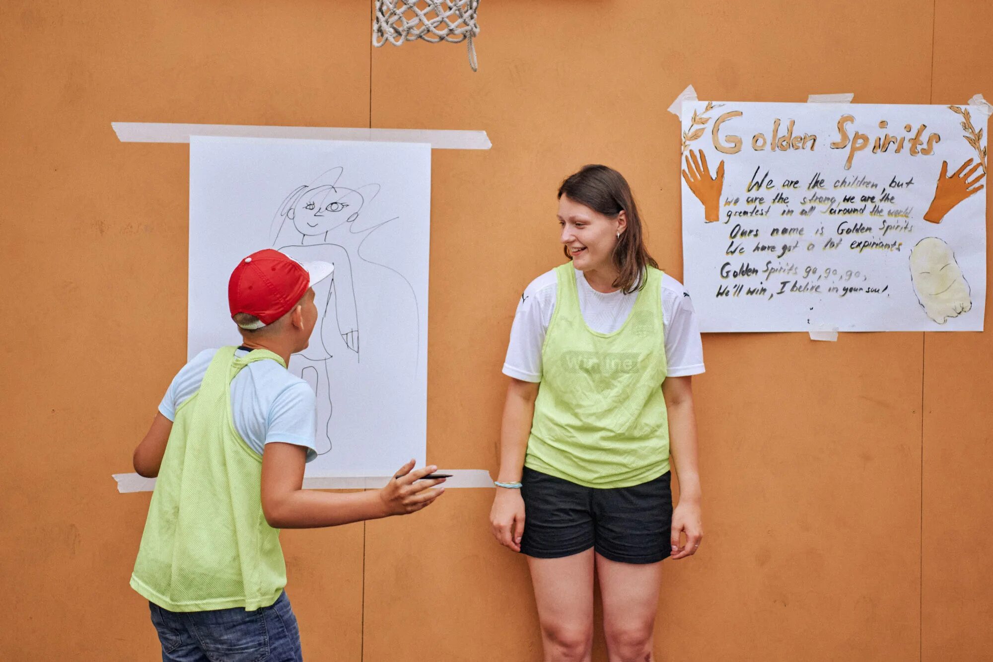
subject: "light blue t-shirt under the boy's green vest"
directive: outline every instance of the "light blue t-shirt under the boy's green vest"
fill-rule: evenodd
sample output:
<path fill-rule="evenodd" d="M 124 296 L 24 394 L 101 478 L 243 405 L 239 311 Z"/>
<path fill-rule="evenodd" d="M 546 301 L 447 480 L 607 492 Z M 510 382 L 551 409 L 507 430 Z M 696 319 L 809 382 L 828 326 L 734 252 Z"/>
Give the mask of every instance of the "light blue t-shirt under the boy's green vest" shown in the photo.
<path fill-rule="evenodd" d="M 173 378 L 159 412 L 170 420 L 204 381 L 215 349 L 204 350 Z M 237 350 L 235 356 L 248 352 Z M 248 446 L 262 454 L 272 441 L 307 447 L 307 461 L 317 457 L 317 398 L 314 390 L 275 361 L 248 364 L 231 381 L 234 428 Z"/>

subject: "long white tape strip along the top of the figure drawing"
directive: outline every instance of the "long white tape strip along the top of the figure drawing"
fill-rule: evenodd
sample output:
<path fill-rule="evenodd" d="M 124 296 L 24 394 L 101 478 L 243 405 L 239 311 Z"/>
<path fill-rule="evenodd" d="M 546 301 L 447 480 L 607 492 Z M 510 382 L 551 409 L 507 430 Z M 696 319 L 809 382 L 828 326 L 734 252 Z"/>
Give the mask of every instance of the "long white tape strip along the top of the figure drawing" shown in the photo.
<path fill-rule="evenodd" d="M 242 138 L 297 138 L 366 142 L 427 142 L 434 149 L 490 149 L 486 131 L 380 129 L 330 126 L 251 126 L 247 124 L 169 124 L 110 122 L 121 142 L 190 142 L 191 135 Z"/>

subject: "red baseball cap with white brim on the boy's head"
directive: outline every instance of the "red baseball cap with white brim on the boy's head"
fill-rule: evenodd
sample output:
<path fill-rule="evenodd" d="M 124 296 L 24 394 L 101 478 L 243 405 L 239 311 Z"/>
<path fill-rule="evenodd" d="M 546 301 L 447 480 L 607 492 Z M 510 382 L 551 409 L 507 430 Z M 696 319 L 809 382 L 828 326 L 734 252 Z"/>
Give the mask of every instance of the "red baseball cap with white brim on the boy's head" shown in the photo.
<path fill-rule="evenodd" d="M 227 281 L 227 305 L 231 317 L 248 313 L 259 322 L 245 329 L 272 324 L 300 301 L 307 289 L 331 275 L 330 262 L 298 262 L 284 252 L 256 250 L 234 267 Z"/>

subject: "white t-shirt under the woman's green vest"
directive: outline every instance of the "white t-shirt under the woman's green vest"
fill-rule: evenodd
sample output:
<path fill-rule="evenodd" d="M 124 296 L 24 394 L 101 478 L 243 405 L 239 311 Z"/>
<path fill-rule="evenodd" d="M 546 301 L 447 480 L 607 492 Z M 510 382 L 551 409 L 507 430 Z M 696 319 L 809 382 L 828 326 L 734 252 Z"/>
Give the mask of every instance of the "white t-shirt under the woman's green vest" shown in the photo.
<path fill-rule="evenodd" d="M 625 294 L 598 292 L 578 269 L 576 288 L 579 308 L 586 324 L 598 333 L 612 333 L 621 328 L 635 307 L 638 291 Z M 700 325 L 689 294 L 675 278 L 662 274 L 662 333 L 665 337 L 665 361 L 669 377 L 686 377 L 703 372 L 703 344 Z M 506 348 L 503 374 L 524 382 L 541 381 L 541 346 L 555 310 L 558 279 L 555 269 L 531 281 L 517 302 L 517 312 L 510 327 L 510 344 Z"/>

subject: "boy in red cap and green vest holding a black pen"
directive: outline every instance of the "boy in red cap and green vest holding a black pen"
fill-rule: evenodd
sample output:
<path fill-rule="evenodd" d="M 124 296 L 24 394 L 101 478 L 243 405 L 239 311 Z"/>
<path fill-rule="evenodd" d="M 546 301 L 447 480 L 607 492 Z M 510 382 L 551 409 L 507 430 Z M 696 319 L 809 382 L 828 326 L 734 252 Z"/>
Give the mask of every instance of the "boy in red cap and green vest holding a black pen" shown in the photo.
<path fill-rule="evenodd" d="M 273 249 L 242 259 L 227 286 L 242 344 L 188 363 L 134 451 L 135 470 L 158 480 L 131 586 L 165 662 L 302 660 L 279 529 L 412 513 L 445 489 L 418 480 L 436 467 L 414 460 L 379 490 L 302 489 L 315 395 L 286 366 L 314 331 L 313 285 L 333 270 Z"/>

